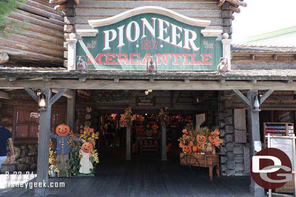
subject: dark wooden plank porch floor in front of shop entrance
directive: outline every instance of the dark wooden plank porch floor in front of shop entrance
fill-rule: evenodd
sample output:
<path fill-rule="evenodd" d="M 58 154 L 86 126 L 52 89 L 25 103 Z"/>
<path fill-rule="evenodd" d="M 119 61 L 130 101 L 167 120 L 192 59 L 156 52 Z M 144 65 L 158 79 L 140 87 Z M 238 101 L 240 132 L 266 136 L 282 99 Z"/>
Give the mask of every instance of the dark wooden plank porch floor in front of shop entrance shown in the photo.
<path fill-rule="evenodd" d="M 252 197 L 249 177 L 210 181 L 208 168 L 188 167 L 179 161 L 101 161 L 95 177 L 51 178 L 65 188 L 50 188 L 49 197 Z M 215 170 L 214 170 L 215 171 Z M 33 181 L 33 180 L 32 180 Z M 3 197 L 33 197 L 33 189 L 4 189 Z"/>

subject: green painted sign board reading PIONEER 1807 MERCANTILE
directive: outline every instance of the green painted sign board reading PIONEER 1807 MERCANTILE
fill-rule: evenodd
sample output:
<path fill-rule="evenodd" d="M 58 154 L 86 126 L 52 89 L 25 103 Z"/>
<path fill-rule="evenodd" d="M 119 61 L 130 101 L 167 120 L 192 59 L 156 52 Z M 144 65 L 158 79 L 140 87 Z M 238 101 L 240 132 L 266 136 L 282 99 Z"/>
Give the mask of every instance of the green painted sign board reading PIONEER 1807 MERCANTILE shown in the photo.
<path fill-rule="evenodd" d="M 159 14 L 140 14 L 94 28 L 76 47 L 87 70 L 146 71 L 156 57 L 158 71 L 215 71 L 222 57 L 216 37 L 204 37 L 204 27 L 191 26 Z"/>

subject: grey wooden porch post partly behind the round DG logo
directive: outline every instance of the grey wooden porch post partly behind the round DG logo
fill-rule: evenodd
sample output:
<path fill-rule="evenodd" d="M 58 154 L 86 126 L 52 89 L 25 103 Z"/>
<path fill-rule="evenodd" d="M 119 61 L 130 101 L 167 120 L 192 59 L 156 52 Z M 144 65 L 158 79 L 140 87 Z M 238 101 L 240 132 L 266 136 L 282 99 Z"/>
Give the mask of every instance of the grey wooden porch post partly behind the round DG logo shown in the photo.
<path fill-rule="evenodd" d="M 247 107 L 248 113 L 248 133 L 249 133 L 249 144 L 250 144 L 250 161 L 252 157 L 257 153 L 254 150 L 254 141 L 260 141 L 260 127 L 259 127 L 259 111 L 254 111 L 254 96 L 258 93 L 257 90 L 247 91 L 247 99 L 250 102 L 250 106 Z M 250 176 L 251 177 L 251 176 Z M 249 186 L 250 193 L 256 197 L 264 196 L 264 188 L 260 187 L 254 182 L 251 177 L 251 184 Z"/>

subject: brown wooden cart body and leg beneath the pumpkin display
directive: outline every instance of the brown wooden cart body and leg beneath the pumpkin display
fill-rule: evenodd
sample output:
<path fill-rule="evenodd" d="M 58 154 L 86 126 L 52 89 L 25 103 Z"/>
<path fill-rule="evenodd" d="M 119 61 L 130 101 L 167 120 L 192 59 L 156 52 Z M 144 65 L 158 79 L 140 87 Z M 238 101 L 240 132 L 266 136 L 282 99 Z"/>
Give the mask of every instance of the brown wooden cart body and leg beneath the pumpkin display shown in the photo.
<path fill-rule="evenodd" d="M 180 165 L 197 166 L 197 167 L 209 167 L 210 180 L 213 180 L 213 168 L 216 166 L 216 172 L 220 177 L 219 169 L 219 154 L 192 154 L 192 153 L 180 153 Z"/>

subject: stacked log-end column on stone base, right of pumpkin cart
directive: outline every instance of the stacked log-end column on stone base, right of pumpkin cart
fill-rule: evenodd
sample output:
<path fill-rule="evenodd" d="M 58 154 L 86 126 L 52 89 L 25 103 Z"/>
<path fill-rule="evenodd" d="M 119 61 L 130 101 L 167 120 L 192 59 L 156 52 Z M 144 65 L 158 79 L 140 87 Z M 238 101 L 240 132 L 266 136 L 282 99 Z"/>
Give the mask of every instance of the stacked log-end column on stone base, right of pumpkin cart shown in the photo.
<path fill-rule="evenodd" d="M 224 140 L 220 152 L 220 172 L 224 176 L 244 175 L 244 144 L 234 142 L 233 108 L 229 91 L 221 91 L 218 96 L 218 117 L 220 136 Z"/>

